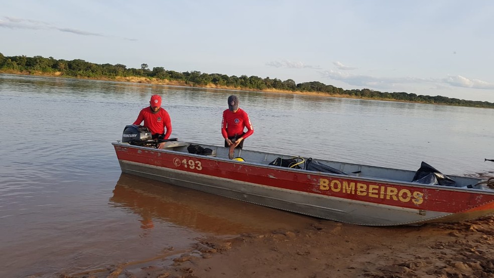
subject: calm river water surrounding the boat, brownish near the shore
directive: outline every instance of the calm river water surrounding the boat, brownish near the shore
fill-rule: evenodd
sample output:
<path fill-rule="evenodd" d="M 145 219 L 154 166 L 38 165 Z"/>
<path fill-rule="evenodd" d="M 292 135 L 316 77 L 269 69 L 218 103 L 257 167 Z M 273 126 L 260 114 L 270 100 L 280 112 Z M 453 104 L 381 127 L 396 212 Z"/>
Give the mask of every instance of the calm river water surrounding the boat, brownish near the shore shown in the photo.
<path fill-rule="evenodd" d="M 494 170 L 494 109 L 0 74 L 1 277 L 170 263 L 207 236 L 312 218 L 122 175 L 111 142 L 160 94 L 172 137 L 221 146 L 237 94 L 244 149 L 444 174 Z"/>

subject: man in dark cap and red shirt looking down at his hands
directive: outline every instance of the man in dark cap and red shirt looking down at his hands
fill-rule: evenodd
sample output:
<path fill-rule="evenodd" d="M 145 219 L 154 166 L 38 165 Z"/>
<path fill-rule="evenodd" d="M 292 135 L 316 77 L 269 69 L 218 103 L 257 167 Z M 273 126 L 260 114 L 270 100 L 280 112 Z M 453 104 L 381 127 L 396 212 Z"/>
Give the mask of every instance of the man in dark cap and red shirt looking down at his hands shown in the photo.
<path fill-rule="evenodd" d="M 247 131 L 243 131 L 247 128 Z M 230 95 L 228 97 L 228 109 L 223 111 L 221 122 L 221 134 L 225 138 L 225 147 L 235 149 L 243 148 L 243 141 L 254 133 L 249 115 L 238 108 L 238 97 Z"/>

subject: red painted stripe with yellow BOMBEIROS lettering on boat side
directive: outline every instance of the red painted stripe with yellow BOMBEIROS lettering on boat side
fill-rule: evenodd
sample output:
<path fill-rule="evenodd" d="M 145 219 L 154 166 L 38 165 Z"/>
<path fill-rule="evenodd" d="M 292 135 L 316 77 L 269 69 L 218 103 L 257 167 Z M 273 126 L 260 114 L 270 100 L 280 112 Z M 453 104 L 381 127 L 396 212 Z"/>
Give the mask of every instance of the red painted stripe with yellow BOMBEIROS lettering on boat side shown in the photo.
<path fill-rule="evenodd" d="M 222 159 L 115 145 L 119 160 L 371 204 L 444 213 L 492 210 L 494 194 L 297 172 Z"/>

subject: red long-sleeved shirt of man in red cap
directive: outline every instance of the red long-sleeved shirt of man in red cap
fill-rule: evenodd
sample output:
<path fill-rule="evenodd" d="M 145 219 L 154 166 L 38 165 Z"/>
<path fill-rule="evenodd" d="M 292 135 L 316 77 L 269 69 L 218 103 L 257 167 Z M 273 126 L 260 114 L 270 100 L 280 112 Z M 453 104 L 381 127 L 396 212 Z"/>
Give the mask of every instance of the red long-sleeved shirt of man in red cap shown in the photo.
<path fill-rule="evenodd" d="M 141 124 L 144 120 L 144 126 L 148 127 L 153 134 L 163 134 L 166 133 L 164 139 L 168 139 L 170 134 L 172 134 L 172 121 L 170 120 L 170 115 L 168 112 L 160 108 L 158 112 L 154 113 L 151 107 L 146 107 L 139 112 L 139 116 L 134 124 Z"/>

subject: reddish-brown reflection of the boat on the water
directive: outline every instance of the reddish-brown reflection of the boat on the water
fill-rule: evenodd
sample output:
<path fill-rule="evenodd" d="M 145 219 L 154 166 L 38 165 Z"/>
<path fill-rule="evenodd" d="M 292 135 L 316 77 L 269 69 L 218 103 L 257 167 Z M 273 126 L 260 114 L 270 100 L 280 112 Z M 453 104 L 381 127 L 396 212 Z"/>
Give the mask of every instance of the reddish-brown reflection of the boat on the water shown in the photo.
<path fill-rule="evenodd" d="M 110 201 L 138 214 L 144 229 L 173 223 L 201 233 L 235 235 L 303 226 L 310 218 L 133 175 L 122 174 Z"/>

